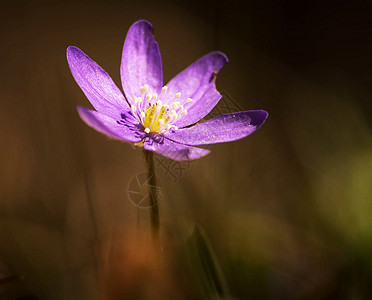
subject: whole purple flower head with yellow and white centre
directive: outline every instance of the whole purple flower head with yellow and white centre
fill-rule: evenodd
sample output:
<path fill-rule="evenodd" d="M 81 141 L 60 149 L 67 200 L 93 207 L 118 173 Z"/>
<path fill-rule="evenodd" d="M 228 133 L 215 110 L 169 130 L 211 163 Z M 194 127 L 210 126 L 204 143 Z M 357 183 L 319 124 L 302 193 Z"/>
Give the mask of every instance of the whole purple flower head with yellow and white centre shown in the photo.
<path fill-rule="evenodd" d="M 96 109 L 78 107 L 90 127 L 174 160 L 203 157 L 210 150 L 193 146 L 244 138 L 267 118 L 263 110 L 241 111 L 193 125 L 221 99 L 215 78 L 227 57 L 211 52 L 163 86 L 159 45 L 153 26 L 145 20 L 132 25 L 124 42 L 120 75 L 125 96 L 79 48 L 68 47 L 67 60 L 77 84 Z"/>

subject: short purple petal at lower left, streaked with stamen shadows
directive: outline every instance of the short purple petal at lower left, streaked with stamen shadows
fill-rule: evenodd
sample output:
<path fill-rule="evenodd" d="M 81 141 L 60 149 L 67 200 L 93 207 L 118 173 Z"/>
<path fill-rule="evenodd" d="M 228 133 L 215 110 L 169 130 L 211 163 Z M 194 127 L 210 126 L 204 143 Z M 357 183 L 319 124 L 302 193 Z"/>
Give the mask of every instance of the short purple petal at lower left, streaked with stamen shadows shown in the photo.
<path fill-rule="evenodd" d="M 78 107 L 78 112 L 80 118 L 90 127 L 114 139 L 138 143 L 145 137 L 137 124 L 128 122 L 125 118 L 117 120 L 82 106 Z"/>

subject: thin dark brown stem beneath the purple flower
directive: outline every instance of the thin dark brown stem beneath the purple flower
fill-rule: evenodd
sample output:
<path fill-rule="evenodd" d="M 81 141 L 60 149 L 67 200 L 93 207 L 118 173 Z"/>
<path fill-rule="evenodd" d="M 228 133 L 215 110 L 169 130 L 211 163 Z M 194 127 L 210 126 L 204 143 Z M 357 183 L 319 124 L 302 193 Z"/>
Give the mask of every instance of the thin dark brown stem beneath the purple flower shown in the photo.
<path fill-rule="evenodd" d="M 155 168 L 153 160 L 153 152 L 143 150 L 146 159 L 146 166 L 148 172 L 148 184 L 149 184 L 149 200 L 150 200 L 150 222 L 151 222 L 151 233 L 154 244 L 158 243 L 159 240 L 159 206 L 158 206 L 158 193 L 155 177 Z"/>

